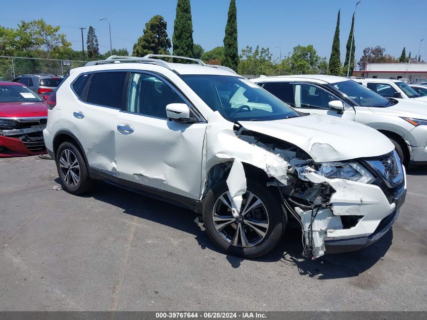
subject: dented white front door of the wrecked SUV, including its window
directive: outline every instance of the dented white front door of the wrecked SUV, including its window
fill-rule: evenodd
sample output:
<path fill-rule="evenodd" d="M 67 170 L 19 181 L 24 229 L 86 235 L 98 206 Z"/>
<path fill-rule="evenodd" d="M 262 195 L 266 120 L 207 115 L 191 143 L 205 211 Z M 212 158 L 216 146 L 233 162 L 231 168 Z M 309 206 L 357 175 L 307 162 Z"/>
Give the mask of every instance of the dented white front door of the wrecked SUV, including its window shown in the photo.
<path fill-rule="evenodd" d="M 206 123 L 169 121 L 169 103 L 185 101 L 160 77 L 131 74 L 115 131 L 118 177 L 198 199 Z"/>

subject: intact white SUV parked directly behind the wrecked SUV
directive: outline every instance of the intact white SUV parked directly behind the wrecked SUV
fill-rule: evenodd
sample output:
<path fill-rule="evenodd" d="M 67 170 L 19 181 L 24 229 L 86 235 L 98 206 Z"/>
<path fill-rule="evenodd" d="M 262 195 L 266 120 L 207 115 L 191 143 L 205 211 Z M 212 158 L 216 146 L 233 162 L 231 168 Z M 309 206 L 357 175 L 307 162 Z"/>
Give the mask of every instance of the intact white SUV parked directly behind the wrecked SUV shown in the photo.
<path fill-rule="evenodd" d="M 427 162 L 424 103 L 386 99 L 345 77 L 294 75 L 252 81 L 302 112 L 336 116 L 377 129 L 391 140 L 405 164 Z"/>

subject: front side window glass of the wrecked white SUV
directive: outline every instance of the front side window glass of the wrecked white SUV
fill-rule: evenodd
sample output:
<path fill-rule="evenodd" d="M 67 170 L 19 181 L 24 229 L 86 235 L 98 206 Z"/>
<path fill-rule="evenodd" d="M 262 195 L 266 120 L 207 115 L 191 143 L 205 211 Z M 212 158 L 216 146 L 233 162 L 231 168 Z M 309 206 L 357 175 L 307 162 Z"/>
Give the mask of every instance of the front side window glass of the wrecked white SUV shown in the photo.
<path fill-rule="evenodd" d="M 132 73 L 126 111 L 167 119 L 166 106 L 185 103 L 165 82 L 150 74 Z"/>

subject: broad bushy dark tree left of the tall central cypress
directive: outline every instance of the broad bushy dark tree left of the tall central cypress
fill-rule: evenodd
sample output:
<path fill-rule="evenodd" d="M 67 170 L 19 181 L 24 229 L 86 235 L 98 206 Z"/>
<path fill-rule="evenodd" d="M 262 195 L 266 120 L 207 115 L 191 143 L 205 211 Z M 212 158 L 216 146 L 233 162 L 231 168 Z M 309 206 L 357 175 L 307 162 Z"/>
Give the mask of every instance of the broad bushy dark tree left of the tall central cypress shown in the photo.
<path fill-rule="evenodd" d="M 165 19 L 156 15 L 146 23 L 144 34 L 138 38 L 133 45 L 133 56 L 144 57 L 148 54 L 169 55 L 171 47 L 168 38 L 167 22 Z"/>

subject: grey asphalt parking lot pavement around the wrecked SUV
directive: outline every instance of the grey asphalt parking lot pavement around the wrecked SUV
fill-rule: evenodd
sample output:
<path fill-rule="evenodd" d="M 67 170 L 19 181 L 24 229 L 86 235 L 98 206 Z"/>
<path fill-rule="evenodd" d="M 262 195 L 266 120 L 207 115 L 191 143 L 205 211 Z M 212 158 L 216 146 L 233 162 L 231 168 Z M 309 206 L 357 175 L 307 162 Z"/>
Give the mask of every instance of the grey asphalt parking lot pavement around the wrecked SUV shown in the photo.
<path fill-rule="evenodd" d="M 1 310 L 427 310 L 427 169 L 408 170 L 393 229 L 365 250 L 301 258 L 301 233 L 244 260 L 196 214 L 100 182 L 59 186 L 52 160 L 0 159 Z"/>

